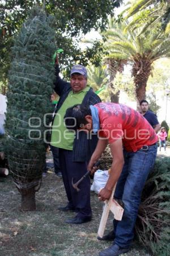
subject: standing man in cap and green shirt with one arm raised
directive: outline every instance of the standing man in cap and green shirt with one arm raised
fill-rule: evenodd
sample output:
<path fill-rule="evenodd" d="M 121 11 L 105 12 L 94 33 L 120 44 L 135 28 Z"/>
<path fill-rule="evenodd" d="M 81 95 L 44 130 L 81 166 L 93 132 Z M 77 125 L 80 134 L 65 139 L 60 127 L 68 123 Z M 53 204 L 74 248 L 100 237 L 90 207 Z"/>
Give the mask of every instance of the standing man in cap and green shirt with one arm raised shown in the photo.
<path fill-rule="evenodd" d="M 54 84 L 54 90 L 59 95 L 59 101 L 53 119 L 50 145 L 53 156 L 57 148 L 59 148 L 59 162 L 68 199 L 67 205 L 58 209 L 65 212 L 68 210 L 76 212 L 74 218 L 66 220 L 67 223 L 82 224 L 91 221 L 92 217 L 90 178 L 83 179 L 79 185 L 79 192 L 73 188 L 71 180 L 74 179 L 76 182 L 87 172 L 87 163 L 95 150 L 97 136 L 92 135 L 91 139 L 87 139 L 87 134 L 81 132 L 77 137 L 72 131 L 66 129 L 63 117 L 66 109 L 75 104 L 95 105 L 101 100 L 92 88 L 87 85 L 87 70 L 82 65 L 75 65 L 71 69 L 70 82 L 66 82 L 59 77 L 57 63 Z"/>

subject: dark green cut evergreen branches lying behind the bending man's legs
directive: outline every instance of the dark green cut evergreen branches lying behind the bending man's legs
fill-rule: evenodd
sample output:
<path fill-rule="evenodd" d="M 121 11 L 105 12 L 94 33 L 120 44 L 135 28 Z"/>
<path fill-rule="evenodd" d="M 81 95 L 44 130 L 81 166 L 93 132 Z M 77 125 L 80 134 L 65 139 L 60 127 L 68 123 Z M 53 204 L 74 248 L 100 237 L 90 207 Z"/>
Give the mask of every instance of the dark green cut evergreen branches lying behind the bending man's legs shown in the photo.
<path fill-rule="evenodd" d="M 142 193 L 135 231 L 138 240 L 154 255 L 170 251 L 170 158 L 156 160 Z"/>

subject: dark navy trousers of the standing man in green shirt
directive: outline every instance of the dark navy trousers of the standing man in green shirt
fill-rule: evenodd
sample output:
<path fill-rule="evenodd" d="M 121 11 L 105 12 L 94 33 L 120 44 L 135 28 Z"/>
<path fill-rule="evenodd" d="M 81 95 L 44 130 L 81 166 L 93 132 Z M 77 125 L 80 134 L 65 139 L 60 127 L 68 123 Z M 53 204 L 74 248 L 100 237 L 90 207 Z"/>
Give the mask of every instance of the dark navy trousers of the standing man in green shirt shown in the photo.
<path fill-rule="evenodd" d="M 65 185 L 69 207 L 75 208 L 78 217 L 91 216 L 90 206 L 90 177 L 86 177 L 79 184 L 80 191 L 77 192 L 71 184 L 78 181 L 87 172 L 86 162 L 73 162 L 73 151 L 59 148 L 59 162 L 63 183 Z"/>

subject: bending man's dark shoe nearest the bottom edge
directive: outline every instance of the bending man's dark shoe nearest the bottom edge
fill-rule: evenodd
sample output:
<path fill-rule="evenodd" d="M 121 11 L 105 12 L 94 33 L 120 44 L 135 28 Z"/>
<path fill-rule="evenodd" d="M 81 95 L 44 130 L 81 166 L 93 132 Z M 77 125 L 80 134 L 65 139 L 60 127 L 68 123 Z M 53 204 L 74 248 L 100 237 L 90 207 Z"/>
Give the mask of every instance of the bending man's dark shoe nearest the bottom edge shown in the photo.
<path fill-rule="evenodd" d="M 128 251 L 129 248 L 121 248 L 120 246 L 116 245 L 116 243 L 114 243 L 108 249 L 100 251 L 99 256 L 118 256 L 120 254 L 127 253 Z"/>

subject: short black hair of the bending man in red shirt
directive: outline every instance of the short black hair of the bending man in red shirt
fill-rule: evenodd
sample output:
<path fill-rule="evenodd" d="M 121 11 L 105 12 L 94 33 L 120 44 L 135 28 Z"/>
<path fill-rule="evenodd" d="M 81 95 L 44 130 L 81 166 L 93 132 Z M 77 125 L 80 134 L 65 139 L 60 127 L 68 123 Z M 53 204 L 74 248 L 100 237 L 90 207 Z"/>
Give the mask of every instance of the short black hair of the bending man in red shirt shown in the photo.
<path fill-rule="evenodd" d="M 91 115 L 90 106 L 76 104 L 73 107 L 67 109 L 64 117 L 67 129 L 78 130 L 82 125 L 86 125 L 86 115 Z"/>

